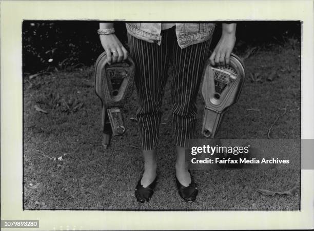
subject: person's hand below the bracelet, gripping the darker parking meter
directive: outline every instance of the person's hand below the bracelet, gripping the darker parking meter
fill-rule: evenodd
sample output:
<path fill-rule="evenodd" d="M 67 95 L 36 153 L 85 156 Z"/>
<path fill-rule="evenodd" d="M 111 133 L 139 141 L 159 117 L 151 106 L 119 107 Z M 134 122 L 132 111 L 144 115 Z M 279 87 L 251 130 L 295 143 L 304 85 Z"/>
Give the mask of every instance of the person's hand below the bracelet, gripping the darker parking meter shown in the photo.
<path fill-rule="evenodd" d="M 128 51 L 124 48 L 121 41 L 115 34 L 103 34 L 100 35 L 102 46 L 107 54 L 108 64 L 114 64 L 114 62 L 121 62 L 127 59 Z"/>

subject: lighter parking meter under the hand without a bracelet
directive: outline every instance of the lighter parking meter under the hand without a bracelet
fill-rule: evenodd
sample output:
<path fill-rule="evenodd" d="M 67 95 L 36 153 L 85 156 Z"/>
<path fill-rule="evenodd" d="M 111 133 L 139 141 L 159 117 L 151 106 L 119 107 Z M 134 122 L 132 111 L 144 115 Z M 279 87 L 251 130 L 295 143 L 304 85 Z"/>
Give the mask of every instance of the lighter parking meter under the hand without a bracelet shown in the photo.
<path fill-rule="evenodd" d="M 238 101 L 245 78 L 242 60 L 231 53 L 229 67 L 212 67 L 209 59 L 203 71 L 205 102 L 202 133 L 213 138 L 226 110 Z"/>

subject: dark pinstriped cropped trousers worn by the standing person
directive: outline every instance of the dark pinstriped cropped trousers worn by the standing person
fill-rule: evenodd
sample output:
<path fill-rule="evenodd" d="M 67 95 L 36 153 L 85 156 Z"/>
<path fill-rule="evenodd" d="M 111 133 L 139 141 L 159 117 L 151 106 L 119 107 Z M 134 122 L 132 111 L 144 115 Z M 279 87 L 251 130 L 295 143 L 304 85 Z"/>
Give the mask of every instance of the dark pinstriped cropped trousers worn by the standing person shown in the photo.
<path fill-rule="evenodd" d="M 136 65 L 135 86 L 138 91 L 138 119 L 143 150 L 156 149 L 162 117 L 162 98 L 172 73 L 172 115 L 175 145 L 186 147 L 186 139 L 195 136 L 196 98 L 203 67 L 209 57 L 211 39 L 181 49 L 175 27 L 162 30 L 161 45 L 151 44 L 128 34 L 130 54 Z"/>

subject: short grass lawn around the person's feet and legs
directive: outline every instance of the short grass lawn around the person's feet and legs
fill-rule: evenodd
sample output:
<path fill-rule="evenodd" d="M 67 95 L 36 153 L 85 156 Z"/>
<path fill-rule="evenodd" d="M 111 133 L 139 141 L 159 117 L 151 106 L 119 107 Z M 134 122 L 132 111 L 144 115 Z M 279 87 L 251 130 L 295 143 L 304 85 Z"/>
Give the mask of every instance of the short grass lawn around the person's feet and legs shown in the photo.
<path fill-rule="evenodd" d="M 246 50 L 246 49 L 242 49 Z M 236 50 L 244 56 L 245 52 Z M 300 45 L 258 47 L 245 59 L 247 78 L 237 104 L 226 113 L 218 138 L 300 138 Z M 275 74 L 271 72 L 276 71 Z M 269 75 L 275 76 L 267 81 Z M 170 85 L 158 154 L 159 182 L 149 203 L 139 205 L 134 189 L 143 161 L 135 117 L 136 94 L 124 109 L 127 136 L 101 145 L 100 100 L 93 67 L 24 78 L 25 209 L 300 209 L 300 192 L 266 196 L 258 188 L 286 191 L 300 187 L 298 170 L 192 171 L 200 193 L 187 204 L 176 191 Z M 169 79 L 170 81 L 170 79 Z M 203 100 L 199 94 L 198 138 Z M 38 106 L 48 113 L 36 111 Z M 253 109 L 253 110 L 252 110 Z M 61 159 L 62 160 L 58 160 Z M 54 159 L 55 158 L 55 159 Z"/>

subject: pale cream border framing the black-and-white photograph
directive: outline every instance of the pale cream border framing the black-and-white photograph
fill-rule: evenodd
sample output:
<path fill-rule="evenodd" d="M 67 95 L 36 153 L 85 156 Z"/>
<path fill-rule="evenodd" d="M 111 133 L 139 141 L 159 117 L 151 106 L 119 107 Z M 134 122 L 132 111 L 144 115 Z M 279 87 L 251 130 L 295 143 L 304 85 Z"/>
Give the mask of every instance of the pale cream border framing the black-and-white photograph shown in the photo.
<path fill-rule="evenodd" d="M 312 0 L 2 1 L 0 17 L 1 220 L 40 220 L 36 230 L 314 227 L 314 170 L 301 171 L 301 211 L 23 211 L 22 199 L 23 20 L 301 20 L 301 138 L 312 139 Z"/>

